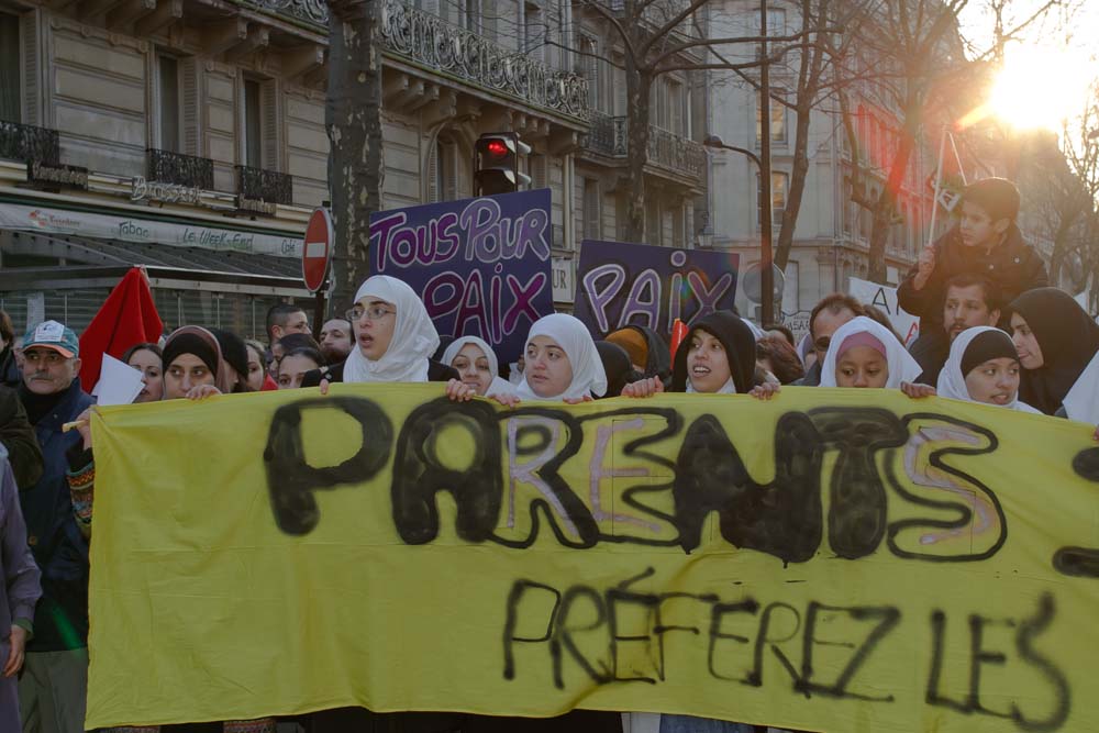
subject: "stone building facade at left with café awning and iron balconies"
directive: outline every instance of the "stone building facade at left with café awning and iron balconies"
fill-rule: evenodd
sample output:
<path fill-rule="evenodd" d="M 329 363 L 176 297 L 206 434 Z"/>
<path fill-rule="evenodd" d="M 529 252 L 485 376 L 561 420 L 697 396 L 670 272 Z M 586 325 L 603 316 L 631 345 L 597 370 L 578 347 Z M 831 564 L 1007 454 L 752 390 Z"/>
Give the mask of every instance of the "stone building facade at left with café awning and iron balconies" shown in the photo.
<path fill-rule="evenodd" d="M 520 133 L 532 187 L 552 190 L 565 309 L 579 242 L 621 237 L 630 186 L 621 42 L 584 4 L 381 5 L 384 207 L 471 196 L 478 136 Z M 58 266 L 237 276 L 154 282 L 171 326 L 254 334 L 270 302 L 308 297 L 295 277 L 328 199 L 328 22 L 320 0 L 0 0 L 0 306 L 16 325 L 90 318 L 106 290 L 43 286 Z M 690 85 L 662 84 L 646 240 L 684 246 L 704 156 Z"/>

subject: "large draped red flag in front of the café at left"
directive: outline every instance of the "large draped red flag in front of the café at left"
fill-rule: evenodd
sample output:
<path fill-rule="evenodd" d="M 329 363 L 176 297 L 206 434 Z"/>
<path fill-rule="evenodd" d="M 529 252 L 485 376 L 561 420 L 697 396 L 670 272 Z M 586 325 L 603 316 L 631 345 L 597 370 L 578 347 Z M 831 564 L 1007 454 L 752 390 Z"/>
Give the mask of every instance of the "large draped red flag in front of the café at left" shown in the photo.
<path fill-rule="evenodd" d="M 126 349 L 142 342 L 156 343 L 164 323 L 153 304 L 153 291 L 138 267 L 114 286 L 99 312 L 80 335 L 80 384 L 90 392 L 99 381 L 103 354 L 122 358 Z"/>

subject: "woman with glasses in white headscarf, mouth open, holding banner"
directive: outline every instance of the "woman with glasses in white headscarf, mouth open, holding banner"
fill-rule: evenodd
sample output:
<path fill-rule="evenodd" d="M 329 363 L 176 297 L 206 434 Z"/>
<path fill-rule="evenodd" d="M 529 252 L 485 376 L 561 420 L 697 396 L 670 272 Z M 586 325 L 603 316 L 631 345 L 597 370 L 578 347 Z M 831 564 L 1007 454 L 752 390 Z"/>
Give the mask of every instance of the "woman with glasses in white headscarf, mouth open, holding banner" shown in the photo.
<path fill-rule="evenodd" d="M 355 348 L 347 360 L 314 369 L 302 387 L 325 381 L 448 381 L 458 374 L 430 357 L 439 347 L 428 309 L 406 282 L 388 275 L 368 278 L 347 311 Z"/>

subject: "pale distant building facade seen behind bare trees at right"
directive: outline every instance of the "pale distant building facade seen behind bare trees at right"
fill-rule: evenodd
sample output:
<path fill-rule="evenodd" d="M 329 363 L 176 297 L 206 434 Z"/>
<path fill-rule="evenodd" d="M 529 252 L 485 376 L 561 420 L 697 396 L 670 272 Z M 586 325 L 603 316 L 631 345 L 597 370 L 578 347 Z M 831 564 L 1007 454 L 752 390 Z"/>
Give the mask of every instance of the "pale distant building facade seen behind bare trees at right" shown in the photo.
<path fill-rule="evenodd" d="M 718 5 L 721 22 L 712 32 L 722 36 L 758 33 L 759 4 L 752 0 L 725 0 Z M 768 5 L 768 35 L 792 35 L 801 31 L 800 3 L 773 1 Z M 742 57 L 751 51 L 740 51 Z M 800 56 L 787 55 L 771 67 L 771 88 L 792 95 L 798 85 Z M 881 95 L 870 93 L 868 82 L 850 90 L 855 135 L 863 151 L 864 176 L 856 177 L 865 200 L 875 200 L 885 186 L 887 166 L 897 148 L 897 116 L 884 105 Z M 712 71 L 708 88 L 710 131 L 728 144 L 759 153 L 766 127 L 771 144 L 771 207 L 777 243 L 793 167 L 796 115 L 776 101 L 765 125 L 756 89 L 726 71 Z M 896 286 L 928 243 L 932 219 L 934 178 L 941 130 L 929 122 L 897 192 L 898 215 L 886 245 L 887 279 Z M 830 292 L 846 291 L 848 278 L 865 278 L 869 268 L 870 211 L 853 201 L 852 149 L 840 105 L 833 98 L 818 104 L 809 125 L 809 168 L 796 223 L 789 263 L 785 270 L 784 318 L 803 325 L 804 315 Z M 758 171 L 744 155 L 710 151 L 709 246 L 735 252 L 741 271 L 759 262 L 761 207 Z M 936 223 L 942 231 L 943 221 Z M 741 288 L 739 307 L 755 312 L 756 303 Z M 801 318 L 799 318 L 799 315 Z M 776 314 L 777 316 L 777 314 Z"/>

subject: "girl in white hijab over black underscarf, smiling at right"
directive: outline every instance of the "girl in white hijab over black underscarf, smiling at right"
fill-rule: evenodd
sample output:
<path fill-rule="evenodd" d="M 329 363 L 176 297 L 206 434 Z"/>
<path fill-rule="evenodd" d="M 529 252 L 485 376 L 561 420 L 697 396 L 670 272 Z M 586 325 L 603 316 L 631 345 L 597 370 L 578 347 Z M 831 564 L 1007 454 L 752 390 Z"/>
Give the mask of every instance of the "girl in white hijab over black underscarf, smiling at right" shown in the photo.
<path fill-rule="evenodd" d="M 1041 414 L 1019 401 L 1020 369 L 1011 336 L 991 326 L 966 329 L 951 344 L 939 396 Z"/>

